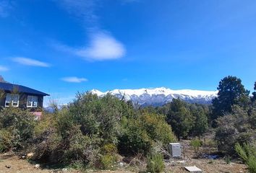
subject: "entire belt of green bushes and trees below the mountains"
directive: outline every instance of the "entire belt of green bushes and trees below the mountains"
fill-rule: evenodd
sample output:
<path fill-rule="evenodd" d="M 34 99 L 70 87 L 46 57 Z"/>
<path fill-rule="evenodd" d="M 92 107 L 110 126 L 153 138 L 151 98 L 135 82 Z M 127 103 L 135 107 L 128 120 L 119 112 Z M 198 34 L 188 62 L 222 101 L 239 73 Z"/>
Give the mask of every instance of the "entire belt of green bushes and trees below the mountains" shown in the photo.
<path fill-rule="evenodd" d="M 168 143 L 197 138 L 190 143 L 197 153 L 211 131 L 218 151 L 242 158 L 255 172 L 255 100 L 256 92 L 250 97 L 240 79 L 228 76 L 220 81 L 213 105 L 173 99 L 163 107 L 135 108 L 110 94 L 87 92 L 61 110 L 44 112 L 40 121 L 26 110 L 3 108 L 0 152 L 30 152 L 33 161 L 76 169 L 114 169 L 121 156 L 140 156 L 148 172 L 162 172 Z"/>

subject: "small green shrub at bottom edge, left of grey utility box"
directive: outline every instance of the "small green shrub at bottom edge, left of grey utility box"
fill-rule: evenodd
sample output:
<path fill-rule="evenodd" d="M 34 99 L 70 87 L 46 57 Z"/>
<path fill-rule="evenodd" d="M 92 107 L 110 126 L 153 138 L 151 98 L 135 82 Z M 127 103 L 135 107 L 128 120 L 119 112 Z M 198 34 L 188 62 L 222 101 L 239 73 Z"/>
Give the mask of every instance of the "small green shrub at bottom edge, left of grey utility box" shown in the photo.
<path fill-rule="evenodd" d="M 155 154 L 147 158 L 147 172 L 158 173 L 164 170 L 163 156 Z"/>

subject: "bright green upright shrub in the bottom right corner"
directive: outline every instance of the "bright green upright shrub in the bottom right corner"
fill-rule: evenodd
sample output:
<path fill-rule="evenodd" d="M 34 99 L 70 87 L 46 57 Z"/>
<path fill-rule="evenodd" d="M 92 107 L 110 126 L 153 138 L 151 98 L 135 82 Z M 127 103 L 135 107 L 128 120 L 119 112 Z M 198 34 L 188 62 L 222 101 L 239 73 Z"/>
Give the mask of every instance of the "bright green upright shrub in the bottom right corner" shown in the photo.
<path fill-rule="evenodd" d="M 254 146 L 249 146 L 249 144 L 244 144 L 241 146 L 236 143 L 235 146 L 236 153 L 241 157 L 250 173 L 256 173 L 256 148 Z"/>

